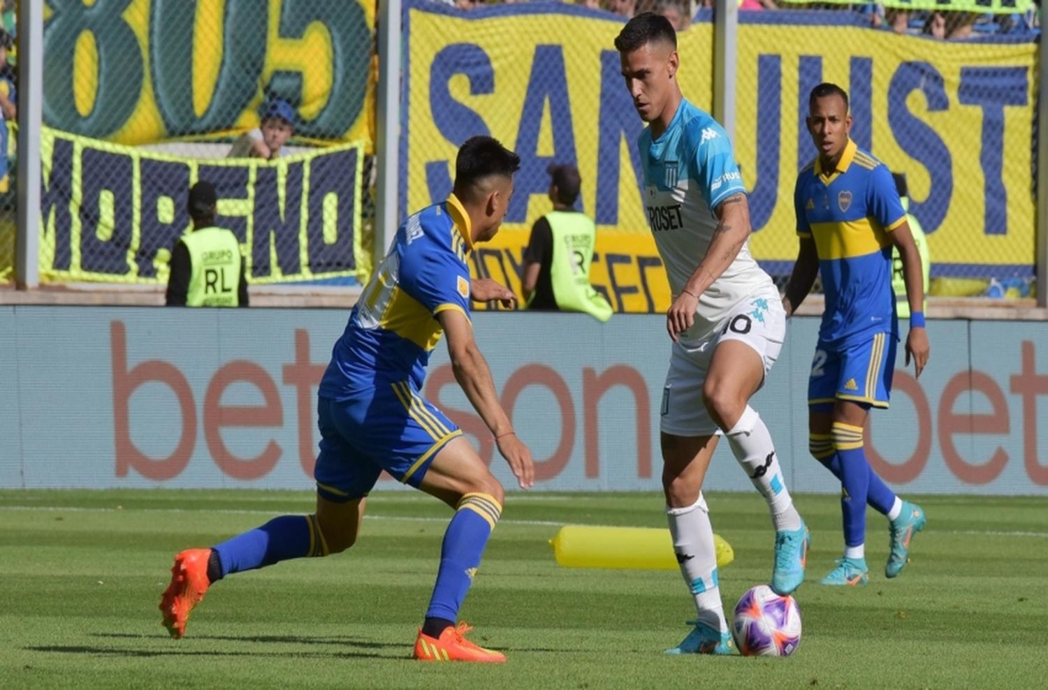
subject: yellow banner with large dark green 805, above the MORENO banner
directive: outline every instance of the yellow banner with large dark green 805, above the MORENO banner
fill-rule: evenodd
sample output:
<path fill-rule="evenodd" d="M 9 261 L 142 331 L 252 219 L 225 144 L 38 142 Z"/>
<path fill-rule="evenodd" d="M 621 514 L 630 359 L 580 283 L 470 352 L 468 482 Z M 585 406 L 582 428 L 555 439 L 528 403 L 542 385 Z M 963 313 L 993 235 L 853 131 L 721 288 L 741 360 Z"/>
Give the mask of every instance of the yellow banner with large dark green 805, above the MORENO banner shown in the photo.
<path fill-rule="evenodd" d="M 44 2 L 44 121 L 116 143 L 236 136 L 278 96 L 302 141 L 373 139 L 368 0 Z"/>

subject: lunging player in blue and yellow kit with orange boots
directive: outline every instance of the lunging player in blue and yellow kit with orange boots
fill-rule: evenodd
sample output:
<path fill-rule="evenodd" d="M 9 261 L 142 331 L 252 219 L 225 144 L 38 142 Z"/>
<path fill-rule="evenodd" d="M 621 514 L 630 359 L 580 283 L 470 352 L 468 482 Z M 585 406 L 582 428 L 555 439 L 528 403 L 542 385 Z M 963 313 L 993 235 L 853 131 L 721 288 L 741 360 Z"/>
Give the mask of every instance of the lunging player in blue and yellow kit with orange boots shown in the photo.
<path fill-rule="evenodd" d="M 461 430 L 422 397 L 430 353 L 446 335 L 455 378 L 490 429 L 524 489 L 534 478 L 531 452 L 514 432 L 473 337 L 470 301 L 514 294 L 490 280 L 471 281 L 475 243 L 499 229 L 514 192 L 517 154 L 487 136 L 459 149 L 446 201 L 408 218 L 335 342 L 321 381 L 316 512 L 283 515 L 212 549 L 175 557 L 163 593 L 162 623 L 175 638 L 208 587 L 231 573 L 303 556 L 327 556 L 356 541 L 368 492 L 385 470 L 453 509 L 440 566 L 414 656 L 421 661 L 504 662 L 465 638 L 457 623 L 487 538 L 502 512 L 503 489 Z"/>

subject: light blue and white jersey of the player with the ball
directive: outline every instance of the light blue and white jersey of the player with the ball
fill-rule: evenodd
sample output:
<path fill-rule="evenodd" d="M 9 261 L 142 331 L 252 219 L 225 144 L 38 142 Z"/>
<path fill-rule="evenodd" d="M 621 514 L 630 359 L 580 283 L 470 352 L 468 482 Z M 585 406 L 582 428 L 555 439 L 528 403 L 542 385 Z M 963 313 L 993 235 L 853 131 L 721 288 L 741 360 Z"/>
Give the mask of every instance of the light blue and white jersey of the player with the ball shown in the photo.
<path fill-rule="evenodd" d="M 709 247 L 717 227 L 713 209 L 746 190 L 724 128 L 687 101 L 680 102 L 658 139 L 653 141 L 651 128 L 646 127 L 637 146 L 645 171 L 648 224 L 670 289 L 678 295 Z M 754 261 L 747 240 L 732 265 L 700 295 L 695 326 L 682 337 L 703 337 L 733 307 L 771 285 Z"/>

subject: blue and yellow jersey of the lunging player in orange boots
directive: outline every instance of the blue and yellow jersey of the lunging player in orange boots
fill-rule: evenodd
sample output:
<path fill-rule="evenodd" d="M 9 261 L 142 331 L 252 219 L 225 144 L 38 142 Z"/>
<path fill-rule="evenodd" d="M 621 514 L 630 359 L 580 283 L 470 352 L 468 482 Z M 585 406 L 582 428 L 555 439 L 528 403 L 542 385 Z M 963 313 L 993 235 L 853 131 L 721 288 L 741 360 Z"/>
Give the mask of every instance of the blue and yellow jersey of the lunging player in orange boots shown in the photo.
<path fill-rule="evenodd" d="M 470 316 L 470 217 L 453 195 L 411 216 L 375 271 L 334 344 L 320 395 L 346 399 L 378 383 L 422 387 L 443 329 L 437 314 Z"/>

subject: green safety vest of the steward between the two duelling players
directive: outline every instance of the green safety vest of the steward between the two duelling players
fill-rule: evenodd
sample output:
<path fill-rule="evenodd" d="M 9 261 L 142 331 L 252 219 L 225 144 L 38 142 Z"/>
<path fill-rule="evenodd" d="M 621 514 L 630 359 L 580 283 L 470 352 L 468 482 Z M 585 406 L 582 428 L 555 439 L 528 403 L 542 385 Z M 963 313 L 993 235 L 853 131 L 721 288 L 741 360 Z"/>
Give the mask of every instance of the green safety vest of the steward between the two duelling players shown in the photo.
<path fill-rule="evenodd" d="M 580 311 L 606 321 L 611 318 L 611 305 L 589 282 L 596 226 L 584 214 L 553 210 L 546 214 L 553 236 L 552 263 L 549 282 L 553 298 L 562 311 Z"/>

